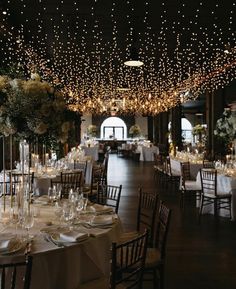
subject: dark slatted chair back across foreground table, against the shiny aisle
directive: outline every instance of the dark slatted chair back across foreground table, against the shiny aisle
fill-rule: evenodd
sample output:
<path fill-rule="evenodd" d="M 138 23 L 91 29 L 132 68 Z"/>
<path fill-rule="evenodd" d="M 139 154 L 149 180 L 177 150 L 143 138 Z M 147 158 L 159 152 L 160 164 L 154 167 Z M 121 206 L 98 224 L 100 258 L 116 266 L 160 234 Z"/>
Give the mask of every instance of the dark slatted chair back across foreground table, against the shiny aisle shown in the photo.
<path fill-rule="evenodd" d="M 115 213 L 118 214 L 121 190 L 122 185 L 101 185 L 98 191 L 97 202 L 102 205 L 113 207 Z"/>

